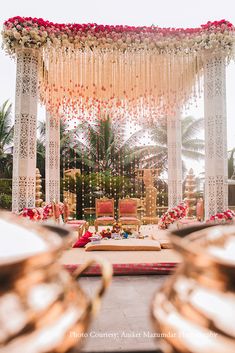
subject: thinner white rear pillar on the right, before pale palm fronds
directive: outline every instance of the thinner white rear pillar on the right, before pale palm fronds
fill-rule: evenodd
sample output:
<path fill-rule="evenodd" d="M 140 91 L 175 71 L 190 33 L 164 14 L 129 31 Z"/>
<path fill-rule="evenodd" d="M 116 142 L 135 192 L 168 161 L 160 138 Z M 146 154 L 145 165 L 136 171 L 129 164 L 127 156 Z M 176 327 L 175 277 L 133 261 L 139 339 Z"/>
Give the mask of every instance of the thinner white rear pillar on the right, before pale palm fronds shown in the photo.
<path fill-rule="evenodd" d="M 182 158 L 181 158 L 180 112 L 167 117 L 168 147 L 168 207 L 175 207 L 182 201 Z"/>

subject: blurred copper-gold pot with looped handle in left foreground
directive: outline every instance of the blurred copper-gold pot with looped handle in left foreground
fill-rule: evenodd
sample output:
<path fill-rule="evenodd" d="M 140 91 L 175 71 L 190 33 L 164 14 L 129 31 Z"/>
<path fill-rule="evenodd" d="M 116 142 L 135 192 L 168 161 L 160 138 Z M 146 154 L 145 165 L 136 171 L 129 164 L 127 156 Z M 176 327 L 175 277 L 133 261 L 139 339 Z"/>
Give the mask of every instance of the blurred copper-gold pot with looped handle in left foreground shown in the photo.
<path fill-rule="evenodd" d="M 67 236 L 66 230 L 6 213 L 0 218 L 18 229 L 30 228 L 48 249 L 27 257 L 0 258 L 0 353 L 64 353 L 79 348 L 110 283 L 111 265 L 94 258 L 71 276 L 57 262 L 64 246 L 58 233 Z M 7 237 L 7 229 L 4 232 Z M 75 279 L 94 262 L 101 266 L 102 281 L 91 300 Z"/>

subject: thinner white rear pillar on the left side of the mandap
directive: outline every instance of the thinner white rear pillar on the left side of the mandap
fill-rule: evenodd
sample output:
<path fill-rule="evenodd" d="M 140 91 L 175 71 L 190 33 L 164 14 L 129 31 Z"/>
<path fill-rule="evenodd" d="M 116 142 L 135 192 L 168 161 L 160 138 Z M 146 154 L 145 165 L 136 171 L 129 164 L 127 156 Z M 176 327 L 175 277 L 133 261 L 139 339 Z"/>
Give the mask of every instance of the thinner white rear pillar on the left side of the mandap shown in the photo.
<path fill-rule="evenodd" d="M 60 201 L 60 118 L 46 114 L 46 202 Z"/>

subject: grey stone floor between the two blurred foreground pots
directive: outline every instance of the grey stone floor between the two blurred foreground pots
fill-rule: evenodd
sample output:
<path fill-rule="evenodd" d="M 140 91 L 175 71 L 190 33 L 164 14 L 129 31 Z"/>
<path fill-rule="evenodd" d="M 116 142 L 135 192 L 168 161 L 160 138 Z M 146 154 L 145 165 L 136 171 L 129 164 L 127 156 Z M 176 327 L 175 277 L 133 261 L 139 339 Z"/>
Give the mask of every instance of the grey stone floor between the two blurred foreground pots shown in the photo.
<path fill-rule="evenodd" d="M 167 275 L 116 276 L 105 295 L 98 317 L 88 333 L 82 352 L 142 351 L 157 348 L 150 304 Z M 92 296 L 99 278 L 83 277 L 81 286 Z"/>

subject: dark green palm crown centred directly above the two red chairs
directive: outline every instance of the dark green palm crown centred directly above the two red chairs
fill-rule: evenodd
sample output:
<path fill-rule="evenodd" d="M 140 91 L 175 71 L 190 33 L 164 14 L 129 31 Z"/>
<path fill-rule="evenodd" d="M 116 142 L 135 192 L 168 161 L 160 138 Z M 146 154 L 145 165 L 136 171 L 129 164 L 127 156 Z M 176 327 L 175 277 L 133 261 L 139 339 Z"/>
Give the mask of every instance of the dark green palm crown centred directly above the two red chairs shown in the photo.
<path fill-rule="evenodd" d="M 112 122 L 109 117 L 96 123 L 83 122 L 73 133 L 78 161 L 83 159 L 85 168 L 114 175 L 121 164 L 125 175 L 132 172 L 132 136 L 124 138 L 125 126 L 120 122 Z"/>

